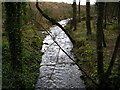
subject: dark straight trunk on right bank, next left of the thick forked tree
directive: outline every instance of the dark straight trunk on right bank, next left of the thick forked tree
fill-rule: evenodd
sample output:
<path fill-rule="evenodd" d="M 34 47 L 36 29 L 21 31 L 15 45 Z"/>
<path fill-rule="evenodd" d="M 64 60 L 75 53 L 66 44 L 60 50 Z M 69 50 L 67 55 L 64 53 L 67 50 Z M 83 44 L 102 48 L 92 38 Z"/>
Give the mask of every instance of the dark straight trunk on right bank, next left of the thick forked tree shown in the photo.
<path fill-rule="evenodd" d="M 87 35 L 91 35 L 90 0 L 86 1 L 86 27 L 87 27 Z"/>

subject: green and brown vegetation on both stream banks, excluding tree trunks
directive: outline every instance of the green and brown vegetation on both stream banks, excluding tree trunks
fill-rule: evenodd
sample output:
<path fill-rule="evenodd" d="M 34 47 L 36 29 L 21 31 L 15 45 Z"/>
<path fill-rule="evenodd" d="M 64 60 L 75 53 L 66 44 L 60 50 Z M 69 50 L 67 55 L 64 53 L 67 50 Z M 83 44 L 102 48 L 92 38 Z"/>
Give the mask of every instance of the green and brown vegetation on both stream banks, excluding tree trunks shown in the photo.
<path fill-rule="evenodd" d="M 63 6 L 62 6 L 63 5 Z M 98 3 L 98 5 L 101 5 Z M 115 6 L 117 4 L 115 3 Z M 45 7 L 44 7 L 45 6 Z M 54 6 L 54 7 L 53 7 Z M 89 3 L 88 3 L 89 6 Z M 111 5 L 110 5 L 111 6 Z M 114 5 L 113 5 L 114 6 Z M 72 17 L 72 8 L 69 4 L 64 3 L 41 3 L 40 7 L 48 14 L 50 17 L 54 17 L 56 21 L 61 19 L 66 19 Z M 47 8 L 48 7 L 48 8 Z M 49 8 L 51 7 L 51 8 Z M 99 53 L 96 51 L 96 19 L 99 13 L 100 7 L 98 7 L 98 13 L 96 12 L 96 7 L 91 5 L 91 34 L 87 35 L 87 28 L 86 28 L 86 10 L 85 6 L 81 6 L 81 20 L 77 22 L 77 28 L 71 28 L 71 22 L 66 26 L 66 32 L 71 36 L 71 39 L 74 41 L 74 48 L 73 53 L 76 56 L 77 63 L 83 68 L 83 70 L 99 85 L 103 85 L 101 87 L 105 87 L 104 84 L 100 84 L 100 78 L 98 74 L 98 61 L 97 61 L 97 54 Z M 67 8 L 67 9 L 66 9 Z M 74 7 L 73 7 L 74 8 Z M 60 10 L 60 12 L 59 12 Z M 113 9 L 114 10 L 114 9 Z M 45 29 L 48 29 L 52 24 L 46 20 L 42 15 L 39 14 L 35 7 L 35 3 L 26 3 L 25 10 L 23 9 L 24 13 L 22 13 L 22 44 L 23 44 L 23 51 L 22 51 L 22 73 L 21 72 L 14 72 L 11 68 L 11 61 L 9 60 L 10 57 L 10 50 L 9 50 L 9 43 L 7 38 L 7 33 L 4 30 L 4 23 L 6 19 L 6 9 L 3 3 L 3 88 L 16 88 L 18 87 L 20 81 L 24 84 L 24 88 L 33 89 L 35 87 L 36 79 L 39 74 L 39 67 L 41 62 L 42 53 L 40 52 L 42 47 L 42 40 L 44 39 L 45 35 L 42 34 Z M 75 10 L 76 11 L 76 10 Z M 89 10 L 88 10 L 89 12 Z M 63 14 L 64 13 L 64 14 Z M 103 48 L 104 51 L 104 71 L 107 71 L 107 67 L 109 65 L 111 56 L 114 51 L 115 42 L 117 35 L 120 33 L 117 30 L 117 20 L 113 19 L 108 10 L 108 17 L 106 22 L 106 27 L 104 28 L 104 36 L 106 41 L 106 47 Z M 117 16 L 115 16 L 116 18 Z M 76 17 L 75 17 L 76 18 Z M 87 17 L 89 18 L 89 17 Z M 100 16 L 99 16 L 100 18 Z M 109 20 L 108 20 L 109 19 Z M 74 21 L 74 20 L 73 20 Z M 26 24 L 26 25 L 25 25 Z M 39 41 L 39 42 L 38 42 Z M 120 85 L 120 77 L 119 77 L 119 52 L 113 67 L 113 70 L 109 78 L 109 83 L 107 84 L 108 87 L 115 87 L 119 89 Z M 101 66 L 102 67 L 102 66 Z M 14 74 L 13 74 L 14 73 Z M 20 81 L 15 83 L 16 76 L 20 77 Z M 86 75 L 81 76 L 84 79 L 87 89 L 95 88 L 96 86 L 89 80 Z M 107 80 L 107 79 L 106 79 Z M 111 86 L 112 85 L 112 86 Z"/>

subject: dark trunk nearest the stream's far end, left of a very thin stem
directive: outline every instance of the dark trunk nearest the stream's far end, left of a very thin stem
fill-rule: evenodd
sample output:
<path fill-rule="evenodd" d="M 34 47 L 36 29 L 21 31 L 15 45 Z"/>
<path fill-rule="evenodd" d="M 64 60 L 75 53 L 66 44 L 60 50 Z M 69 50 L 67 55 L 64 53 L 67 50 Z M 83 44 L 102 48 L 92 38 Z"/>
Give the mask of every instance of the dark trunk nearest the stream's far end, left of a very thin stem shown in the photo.
<path fill-rule="evenodd" d="M 73 27 L 74 27 L 74 30 L 76 30 L 77 29 L 77 5 L 76 5 L 76 0 L 73 0 L 72 7 L 73 7 Z"/>

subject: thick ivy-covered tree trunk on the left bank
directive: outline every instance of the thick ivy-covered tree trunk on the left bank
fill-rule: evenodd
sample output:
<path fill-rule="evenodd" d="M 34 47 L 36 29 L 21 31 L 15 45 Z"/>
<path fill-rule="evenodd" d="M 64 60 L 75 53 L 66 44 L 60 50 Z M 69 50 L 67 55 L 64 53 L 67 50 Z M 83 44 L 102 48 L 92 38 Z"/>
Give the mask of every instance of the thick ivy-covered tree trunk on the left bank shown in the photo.
<path fill-rule="evenodd" d="M 21 42 L 21 6 L 20 2 L 5 2 L 6 21 L 5 31 L 8 34 L 10 60 L 15 78 L 16 88 L 24 87 L 19 73 L 22 72 L 22 42 Z"/>

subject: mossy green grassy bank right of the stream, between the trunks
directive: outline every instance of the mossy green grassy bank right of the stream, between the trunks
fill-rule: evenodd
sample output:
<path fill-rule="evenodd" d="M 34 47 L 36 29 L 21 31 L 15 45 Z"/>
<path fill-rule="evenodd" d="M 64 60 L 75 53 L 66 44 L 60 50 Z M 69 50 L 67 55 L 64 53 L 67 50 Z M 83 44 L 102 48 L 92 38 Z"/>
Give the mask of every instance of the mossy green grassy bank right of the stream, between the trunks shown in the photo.
<path fill-rule="evenodd" d="M 83 68 L 83 70 L 98 83 L 97 79 L 97 53 L 96 53 L 96 22 L 91 20 L 91 29 L 92 35 L 86 35 L 86 22 L 83 20 L 77 24 L 77 30 L 73 31 L 68 29 L 69 34 L 72 36 L 74 42 L 73 53 L 77 59 L 78 64 Z M 115 46 L 115 41 L 118 36 L 118 31 L 115 30 L 115 23 L 112 25 L 107 25 L 107 28 L 104 30 L 105 41 L 107 47 L 104 48 L 104 70 L 107 69 L 108 64 L 111 60 L 112 53 Z M 67 25 L 67 28 L 70 28 L 70 25 Z M 115 62 L 114 70 L 110 78 L 112 79 L 113 85 L 119 86 L 120 78 L 118 76 L 118 59 Z M 86 84 L 87 88 L 94 88 L 94 84 L 86 78 L 86 76 L 81 76 Z M 116 80 L 118 79 L 118 80 Z M 116 80 L 116 81 L 115 81 Z"/>

